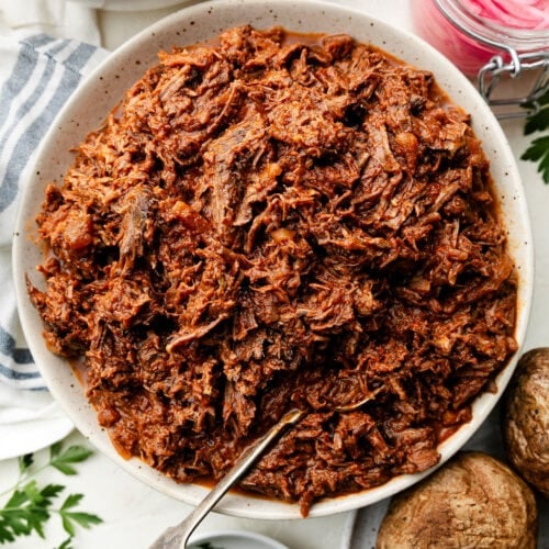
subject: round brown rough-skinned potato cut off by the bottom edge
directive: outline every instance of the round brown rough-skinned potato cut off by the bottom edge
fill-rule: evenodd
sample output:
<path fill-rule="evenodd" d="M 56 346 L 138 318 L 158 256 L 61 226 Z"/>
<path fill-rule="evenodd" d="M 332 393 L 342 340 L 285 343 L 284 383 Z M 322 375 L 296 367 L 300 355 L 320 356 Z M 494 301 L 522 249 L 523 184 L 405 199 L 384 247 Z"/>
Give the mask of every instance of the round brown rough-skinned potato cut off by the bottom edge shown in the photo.
<path fill-rule="evenodd" d="M 529 486 L 481 452 L 461 452 L 393 497 L 377 549 L 536 547 L 537 507 Z"/>

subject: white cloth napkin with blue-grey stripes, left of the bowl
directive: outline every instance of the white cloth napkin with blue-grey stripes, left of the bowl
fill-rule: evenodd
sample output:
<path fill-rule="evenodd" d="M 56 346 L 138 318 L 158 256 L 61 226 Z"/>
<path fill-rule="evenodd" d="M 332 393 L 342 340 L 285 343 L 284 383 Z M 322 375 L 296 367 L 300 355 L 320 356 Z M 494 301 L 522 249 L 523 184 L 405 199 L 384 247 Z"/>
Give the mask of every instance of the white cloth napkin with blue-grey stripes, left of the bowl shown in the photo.
<path fill-rule="evenodd" d="M 72 429 L 24 341 L 11 264 L 18 199 L 37 145 L 82 76 L 108 55 L 97 44 L 67 37 L 72 25 L 99 40 L 93 10 L 69 3 L 0 0 L 0 459 L 44 448 Z M 41 27 L 48 34 L 29 34 Z"/>

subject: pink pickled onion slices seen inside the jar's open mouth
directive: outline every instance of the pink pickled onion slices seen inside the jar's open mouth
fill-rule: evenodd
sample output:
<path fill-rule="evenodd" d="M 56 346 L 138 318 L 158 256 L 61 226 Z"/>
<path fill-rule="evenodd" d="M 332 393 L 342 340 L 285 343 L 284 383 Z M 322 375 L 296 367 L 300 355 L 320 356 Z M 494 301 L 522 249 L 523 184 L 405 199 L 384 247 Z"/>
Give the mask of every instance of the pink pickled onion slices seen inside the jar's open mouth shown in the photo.
<path fill-rule="evenodd" d="M 461 3 L 478 16 L 512 29 L 549 29 L 549 0 L 461 0 Z"/>

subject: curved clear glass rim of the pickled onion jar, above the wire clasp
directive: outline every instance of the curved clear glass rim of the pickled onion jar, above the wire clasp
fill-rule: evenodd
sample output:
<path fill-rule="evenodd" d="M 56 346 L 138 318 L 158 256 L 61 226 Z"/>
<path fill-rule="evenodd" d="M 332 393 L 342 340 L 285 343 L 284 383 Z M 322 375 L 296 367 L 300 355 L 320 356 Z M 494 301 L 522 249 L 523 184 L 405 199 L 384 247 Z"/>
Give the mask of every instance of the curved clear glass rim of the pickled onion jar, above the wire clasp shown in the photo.
<path fill-rule="evenodd" d="M 470 37 L 492 47 L 515 52 L 549 48 L 549 29 L 527 30 L 506 26 L 473 13 L 461 0 L 434 0 L 441 13 Z"/>

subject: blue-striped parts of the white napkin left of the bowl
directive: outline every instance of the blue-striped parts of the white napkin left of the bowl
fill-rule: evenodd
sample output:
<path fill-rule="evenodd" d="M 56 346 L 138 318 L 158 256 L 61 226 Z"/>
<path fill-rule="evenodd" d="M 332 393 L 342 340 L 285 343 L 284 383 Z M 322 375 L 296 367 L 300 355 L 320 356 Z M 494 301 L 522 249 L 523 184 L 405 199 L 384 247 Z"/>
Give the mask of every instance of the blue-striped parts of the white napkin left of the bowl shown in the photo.
<path fill-rule="evenodd" d="M 103 57 L 96 46 L 45 34 L 25 37 L 16 46 L 0 89 L 0 216 L 4 227 L 10 226 L 8 216 L 14 215 L 10 206 L 16 203 L 22 177 L 40 142 L 77 88 L 82 72 Z M 8 326 L 0 327 L 0 383 L 44 391 L 44 380 L 31 351 L 11 329 L 15 314 L 12 310 L 0 315 L 2 321 L 8 318 Z"/>

